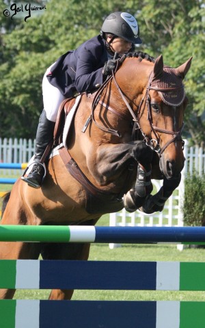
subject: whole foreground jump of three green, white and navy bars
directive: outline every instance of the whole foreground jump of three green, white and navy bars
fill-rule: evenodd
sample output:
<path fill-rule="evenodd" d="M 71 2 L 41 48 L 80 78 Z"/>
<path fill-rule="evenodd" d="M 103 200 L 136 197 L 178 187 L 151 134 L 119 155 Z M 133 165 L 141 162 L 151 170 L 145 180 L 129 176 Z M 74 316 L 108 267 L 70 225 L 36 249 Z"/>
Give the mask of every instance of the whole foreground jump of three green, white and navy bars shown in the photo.
<path fill-rule="evenodd" d="M 205 243 L 205 227 L 0 226 L 1 241 Z M 1 260 L 0 288 L 205 290 L 205 263 Z M 194 277 L 194 279 L 193 279 Z M 204 328 L 205 302 L 0 300 L 1 328 Z"/>

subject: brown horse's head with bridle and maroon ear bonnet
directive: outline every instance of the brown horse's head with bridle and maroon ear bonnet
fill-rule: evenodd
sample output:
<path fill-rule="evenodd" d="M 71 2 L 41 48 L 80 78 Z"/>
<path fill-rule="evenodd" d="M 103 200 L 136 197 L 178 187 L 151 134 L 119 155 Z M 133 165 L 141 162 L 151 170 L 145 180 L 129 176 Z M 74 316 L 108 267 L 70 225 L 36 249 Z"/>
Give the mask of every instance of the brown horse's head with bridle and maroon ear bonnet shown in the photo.
<path fill-rule="evenodd" d="M 187 98 L 182 79 L 191 59 L 178 68 L 170 68 L 163 65 L 163 57 L 159 56 L 139 108 L 141 131 L 159 153 L 160 169 L 167 179 L 178 176 L 184 167 L 182 128 Z"/>

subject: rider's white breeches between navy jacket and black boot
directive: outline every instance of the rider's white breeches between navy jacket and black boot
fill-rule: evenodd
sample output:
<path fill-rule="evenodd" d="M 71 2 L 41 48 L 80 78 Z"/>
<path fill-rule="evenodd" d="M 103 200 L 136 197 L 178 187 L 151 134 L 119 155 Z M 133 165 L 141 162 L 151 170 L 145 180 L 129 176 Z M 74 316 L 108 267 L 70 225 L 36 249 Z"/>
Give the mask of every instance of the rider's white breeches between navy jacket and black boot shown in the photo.
<path fill-rule="evenodd" d="M 55 64 L 55 63 L 54 63 Z M 51 85 L 46 78 L 46 74 L 51 71 L 52 64 L 45 72 L 42 80 L 42 94 L 44 102 L 44 110 L 46 111 L 46 118 L 52 122 L 55 122 L 57 119 L 57 111 L 61 102 L 66 99 L 61 92 Z"/>

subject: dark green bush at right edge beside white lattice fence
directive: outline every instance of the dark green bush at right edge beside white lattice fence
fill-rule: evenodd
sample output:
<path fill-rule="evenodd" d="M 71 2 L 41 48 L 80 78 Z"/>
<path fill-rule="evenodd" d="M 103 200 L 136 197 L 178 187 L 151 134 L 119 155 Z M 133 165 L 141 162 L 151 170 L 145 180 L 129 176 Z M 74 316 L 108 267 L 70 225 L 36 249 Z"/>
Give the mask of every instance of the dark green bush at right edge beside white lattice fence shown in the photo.
<path fill-rule="evenodd" d="M 205 176 L 187 176 L 184 188 L 184 224 L 205 226 Z"/>

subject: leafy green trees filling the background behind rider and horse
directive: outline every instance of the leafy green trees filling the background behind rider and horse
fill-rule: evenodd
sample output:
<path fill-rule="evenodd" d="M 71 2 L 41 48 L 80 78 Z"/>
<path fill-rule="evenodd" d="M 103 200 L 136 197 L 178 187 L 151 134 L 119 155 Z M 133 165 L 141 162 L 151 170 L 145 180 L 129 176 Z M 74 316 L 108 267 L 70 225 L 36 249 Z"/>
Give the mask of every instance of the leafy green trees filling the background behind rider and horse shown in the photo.
<path fill-rule="evenodd" d="M 0 0 L 1 13 L 11 3 Z M 42 1 L 32 3 L 40 5 Z M 40 16 L 31 12 L 26 22 L 23 17 L 12 20 L 0 16 L 1 137 L 35 137 L 46 68 L 98 34 L 107 14 L 120 10 L 137 17 L 143 40 L 140 50 L 154 57 L 163 53 L 165 63 L 174 67 L 193 55 L 185 81 L 189 96 L 186 130 L 195 142 L 205 140 L 200 118 L 204 111 L 205 61 L 204 7 L 200 0 L 91 0 L 86 5 L 82 0 L 50 0 L 43 4 L 46 10 Z"/>

